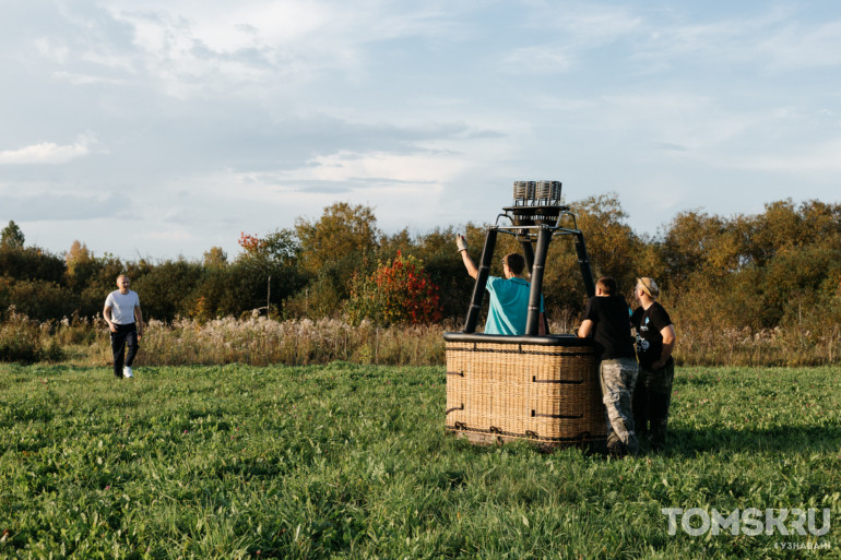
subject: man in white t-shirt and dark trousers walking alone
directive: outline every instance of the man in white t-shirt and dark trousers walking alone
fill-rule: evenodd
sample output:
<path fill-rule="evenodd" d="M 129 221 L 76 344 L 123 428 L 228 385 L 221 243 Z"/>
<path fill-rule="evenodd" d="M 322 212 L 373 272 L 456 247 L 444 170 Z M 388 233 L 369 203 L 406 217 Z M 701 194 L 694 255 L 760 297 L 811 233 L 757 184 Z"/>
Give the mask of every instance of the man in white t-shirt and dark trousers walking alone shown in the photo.
<path fill-rule="evenodd" d="M 137 291 L 129 289 L 131 281 L 125 274 L 117 276 L 116 289 L 105 299 L 103 317 L 111 332 L 111 353 L 114 354 L 114 376 L 117 379 L 133 378 L 131 364 L 138 354 L 138 341 L 143 336 L 143 313 L 140 311 L 140 298 Z M 123 357 L 126 347 L 128 355 Z"/>

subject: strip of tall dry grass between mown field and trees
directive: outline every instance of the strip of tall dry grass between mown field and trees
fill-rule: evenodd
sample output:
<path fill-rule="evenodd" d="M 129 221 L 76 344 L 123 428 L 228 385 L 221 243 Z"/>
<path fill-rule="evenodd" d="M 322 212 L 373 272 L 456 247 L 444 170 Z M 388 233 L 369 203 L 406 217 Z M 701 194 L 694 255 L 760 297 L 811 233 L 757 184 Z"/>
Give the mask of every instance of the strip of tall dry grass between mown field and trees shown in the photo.
<path fill-rule="evenodd" d="M 676 319 L 678 365 L 826 366 L 841 361 L 841 325 L 820 331 L 777 327 L 761 332 L 713 329 Z M 575 333 L 578 322 L 561 318 L 553 333 Z M 442 334 L 461 325 L 354 326 L 336 319 L 274 321 L 265 317 L 173 323 L 150 321 L 140 341 L 138 366 L 247 364 L 356 364 L 439 366 Z M 0 361 L 67 360 L 85 366 L 111 361 L 108 330 L 100 318 L 37 322 L 7 313 L 0 322 Z"/>

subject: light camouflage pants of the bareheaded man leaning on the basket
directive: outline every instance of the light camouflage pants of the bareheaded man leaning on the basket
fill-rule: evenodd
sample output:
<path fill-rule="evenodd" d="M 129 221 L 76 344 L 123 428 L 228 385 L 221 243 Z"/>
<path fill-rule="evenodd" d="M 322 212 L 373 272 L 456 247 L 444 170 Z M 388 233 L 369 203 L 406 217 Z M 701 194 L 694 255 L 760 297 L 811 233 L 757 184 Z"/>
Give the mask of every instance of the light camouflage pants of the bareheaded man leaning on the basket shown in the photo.
<path fill-rule="evenodd" d="M 599 378 L 602 382 L 602 400 L 607 412 L 607 449 L 621 442 L 625 452 L 636 454 L 639 442 L 633 431 L 631 398 L 637 382 L 637 360 L 617 358 L 602 360 Z"/>

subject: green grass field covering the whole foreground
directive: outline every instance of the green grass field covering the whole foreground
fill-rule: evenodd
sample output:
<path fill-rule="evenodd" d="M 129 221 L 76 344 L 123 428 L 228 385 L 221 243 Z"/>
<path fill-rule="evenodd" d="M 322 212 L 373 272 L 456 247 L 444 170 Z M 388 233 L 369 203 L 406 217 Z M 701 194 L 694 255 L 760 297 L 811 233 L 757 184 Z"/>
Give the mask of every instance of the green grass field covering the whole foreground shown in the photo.
<path fill-rule="evenodd" d="M 670 449 L 621 461 L 454 439 L 443 368 L 135 374 L 0 365 L 0 557 L 841 558 L 837 369 L 678 369 Z M 831 527 L 670 535 L 664 508 Z"/>

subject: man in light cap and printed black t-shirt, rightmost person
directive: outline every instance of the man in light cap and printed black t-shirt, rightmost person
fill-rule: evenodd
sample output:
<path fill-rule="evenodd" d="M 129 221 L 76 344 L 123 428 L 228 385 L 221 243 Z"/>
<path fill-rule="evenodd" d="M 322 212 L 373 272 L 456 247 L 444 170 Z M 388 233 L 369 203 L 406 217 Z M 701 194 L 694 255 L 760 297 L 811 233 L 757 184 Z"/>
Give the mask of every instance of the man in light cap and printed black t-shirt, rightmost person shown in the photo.
<path fill-rule="evenodd" d="M 633 297 L 640 307 L 631 314 L 637 330 L 637 358 L 640 371 L 633 391 L 633 420 L 637 431 L 645 434 L 653 450 L 666 443 L 668 407 L 675 379 L 675 326 L 656 300 L 660 295 L 653 278 L 637 278 Z"/>

